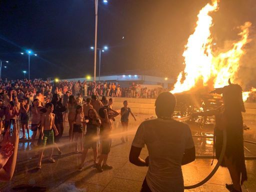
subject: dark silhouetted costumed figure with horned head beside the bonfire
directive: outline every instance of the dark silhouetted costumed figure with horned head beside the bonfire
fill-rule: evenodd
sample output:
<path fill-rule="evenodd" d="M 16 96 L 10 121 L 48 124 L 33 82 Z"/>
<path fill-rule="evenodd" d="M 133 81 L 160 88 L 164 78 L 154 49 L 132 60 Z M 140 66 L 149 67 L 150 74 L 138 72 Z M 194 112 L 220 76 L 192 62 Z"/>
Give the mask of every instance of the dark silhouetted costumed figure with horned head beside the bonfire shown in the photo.
<path fill-rule="evenodd" d="M 221 166 L 227 167 L 232 184 L 226 188 L 232 192 L 242 191 L 240 184 L 247 180 L 243 151 L 243 120 L 241 112 L 245 112 L 242 89 L 238 84 L 232 84 L 228 79 L 227 86 L 215 88 L 211 93 L 222 94 L 223 105 L 217 109 L 201 112 L 203 116 L 215 115 L 215 150 L 217 159 L 220 156 L 223 129 L 226 130 L 226 150 Z"/>

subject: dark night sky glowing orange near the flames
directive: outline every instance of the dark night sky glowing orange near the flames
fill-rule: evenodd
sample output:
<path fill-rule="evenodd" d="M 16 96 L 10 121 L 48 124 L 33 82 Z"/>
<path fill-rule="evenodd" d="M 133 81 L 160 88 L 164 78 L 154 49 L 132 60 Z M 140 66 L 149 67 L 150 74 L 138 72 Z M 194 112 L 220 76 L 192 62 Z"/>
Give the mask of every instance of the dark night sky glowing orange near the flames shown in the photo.
<path fill-rule="evenodd" d="M 102 54 L 101 73 L 137 70 L 175 77 L 182 70 L 182 52 L 196 15 L 207 2 L 108 0 L 105 5 L 99 0 L 97 44 L 109 47 Z M 254 0 L 221 0 L 219 7 L 212 14 L 219 46 L 237 39 L 235 27 L 247 20 L 255 37 Z M 9 60 L 2 75 L 22 77 L 28 64 L 20 52 L 27 48 L 38 54 L 31 57 L 31 78 L 92 75 L 94 23 L 94 0 L 1 0 L 0 59 Z"/>

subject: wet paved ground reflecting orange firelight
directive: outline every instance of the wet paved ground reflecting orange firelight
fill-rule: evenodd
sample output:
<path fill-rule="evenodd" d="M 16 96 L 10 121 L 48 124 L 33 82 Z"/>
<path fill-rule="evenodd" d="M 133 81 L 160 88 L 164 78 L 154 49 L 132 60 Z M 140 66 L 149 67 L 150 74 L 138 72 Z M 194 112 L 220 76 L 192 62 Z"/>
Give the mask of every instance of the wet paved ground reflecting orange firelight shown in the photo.
<path fill-rule="evenodd" d="M 150 115 L 137 114 L 137 121 L 130 118 L 127 143 L 122 143 L 120 140 L 119 117 L 116 118 L 112 135 L 112 147 L 108 157 L 108 164 L 112 165 L 113 169 L 104 170 L 101 173 L 98 173 L 92 167 L 93 156 L 91 149 L 87 154 L 83 170 L 77 170 L 81 154 L 74 153 L 74 146 L 68 142 L 66 136 L 68 132 L 67 122 L 64 123 L 64 136 L 60 144 L 63 154 L 58 155 L 57 151 L 54 150 L 56 162 L 50 163 L 46 159 L 46 151 L 40 170 L 36 169 L 37 147 L 31 147 L 29 142 L 20 142 L 14 176 L 11 181 L 0 183 L 1 191 L 139 191 L 147 167 L 138 167 L 131 164 L 128 161 L 128 154 L 136 128 L 146 117 L 150 117 Z M 245 123 L 250 129 L 244 131 L 244 139 L 256 141 L 255 121 L 245 121 Z M 193 135 L 200 134 L 200 128 L 197 125 L 191 125 L 191 130 Z M 211 135 L 212 131 L 211 126 L 202 130 L 205 135 Z M 198 158 L 194 162 L 182 166 L 185 185 L 202 180 L 217 162 L 214 159 L 213 165 L 210 165 L 213 152 L 211 138 L 194 137 L 194 143 Z M 256 156 L 256 145 L 245 143 L 245 147 L 245 156 Z M 141 157 L 145 158 L 147 154 L 146 148 L 143 148 Z M 243 191 L 256 191 L 256 160 L 246 160 L 246 167 L 248 181 L 244 183 L 242 189 Z M 225 183 L 231 183 L 231 179 L 227 169 L 220 167 L 215 175 L 204 185 L 185 191 L 227 191 L 224 187 Z"/>

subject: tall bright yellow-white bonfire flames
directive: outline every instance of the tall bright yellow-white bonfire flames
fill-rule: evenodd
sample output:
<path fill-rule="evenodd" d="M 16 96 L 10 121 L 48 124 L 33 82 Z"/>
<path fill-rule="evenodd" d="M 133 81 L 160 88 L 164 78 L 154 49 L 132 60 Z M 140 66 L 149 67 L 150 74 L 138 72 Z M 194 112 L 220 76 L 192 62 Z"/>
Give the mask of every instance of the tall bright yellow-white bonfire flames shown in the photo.
<path fill-rule="evenodd" d="M 240 26 L 238 33 L 240 39 L 232 44 L 232 48 L 220 53 L 212 51 L 212 38 L 210 27 L 212 17 L 209 13 L 218 9 L 217 0 L 206 4 L 197 15 L 196 27 L 187 40 L 184 56 L 184 71 L 180 72 L 172 93 L 190 90 L 195 86 L 222 87 L 227 84 L 228 78 L 231 82 L 235 80 L 239 69 L 240 57 L 244 54 L 244 45 L 249 42 L 248 34 L 250 22 Z M 251 89 L 250 91 L 253 91 Z M 249 92 L 243 93 L 246 100 Z"/>

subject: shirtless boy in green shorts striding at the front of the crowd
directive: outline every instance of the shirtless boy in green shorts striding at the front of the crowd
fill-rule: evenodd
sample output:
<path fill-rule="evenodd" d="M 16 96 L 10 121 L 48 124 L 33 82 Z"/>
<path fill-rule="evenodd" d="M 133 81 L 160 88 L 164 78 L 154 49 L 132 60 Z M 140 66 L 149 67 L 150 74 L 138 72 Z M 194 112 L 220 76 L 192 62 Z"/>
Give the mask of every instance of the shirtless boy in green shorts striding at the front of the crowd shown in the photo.
<path fill-rule="evenodd" d="M 51 153 L 49 155 L 49 161 L 50 162 L 55 162 L 55 159 L 52 158 L 52 153 L 53 153 L 53 144 L 54 144 L 54 136 L 53 136 L 53 129 L 55 131 L 55 135 L 58 135 L 58 130 L 54 124 L 54 117 L 55 114 L 52 113 L 53 111 L 53 104 L 52 103 L 47 103 L 45 105 L 47 111 L 45 114 L 42 115 L 42 120 L 41 120 L 41 144 L 43 145 L 42 151 L 39 154 L 39 159 L 38 159 L 38 164 L 37 168 L 41 168 L 41 160 L 42 160 L 42 155 L 43 155 L 43 150 L 46 144 L 52 145 L 51 147 Z"/>

